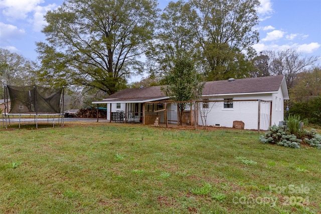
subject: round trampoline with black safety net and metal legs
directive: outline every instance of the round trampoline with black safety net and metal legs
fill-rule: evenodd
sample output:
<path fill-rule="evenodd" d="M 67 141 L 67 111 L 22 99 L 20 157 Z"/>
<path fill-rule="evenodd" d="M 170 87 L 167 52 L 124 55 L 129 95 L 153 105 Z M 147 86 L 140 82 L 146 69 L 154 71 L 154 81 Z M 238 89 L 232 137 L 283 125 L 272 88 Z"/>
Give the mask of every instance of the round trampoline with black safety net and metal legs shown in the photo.
<path fill-rule="evenodd" d="M 8 94 L 9 93 L 9 94 Z M 9 104 L 10 99 L 10 104 Z M 52 118 L 53 127 L 55 119 L 58 124 L 64 125 L 64 88 L 45 88 L 37 85 L 33 86 L 5 86 L 5 111 L 3 116 L 3 126 L 8 129 L 10 126 L 10 116 L 18 116 L 19 128 L 21 127 L 21 116 L 33 116 L 34 123 L 38 129 L 38 121 L 47 116 Z"/>

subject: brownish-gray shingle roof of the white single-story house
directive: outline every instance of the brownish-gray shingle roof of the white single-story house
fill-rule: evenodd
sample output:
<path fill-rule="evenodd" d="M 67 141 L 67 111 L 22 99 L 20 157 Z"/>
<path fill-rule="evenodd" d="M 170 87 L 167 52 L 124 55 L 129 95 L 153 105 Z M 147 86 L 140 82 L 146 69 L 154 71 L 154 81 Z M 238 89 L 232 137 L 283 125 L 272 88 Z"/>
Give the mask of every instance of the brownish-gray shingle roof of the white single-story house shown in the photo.
<path fill-rule="evenodd" d="M 203 95 L 277 92 L 282 84 L 283 79 L 284 76 L 279 75 L 269 77 L 235 79 L 234 81 L 222 80 L 206 82 L 203 89 Z M 106 99 L 112 99 L 110 100 L 111 102 L 134 102 L 166 99 L 167 97 L 165 93 L 161 90 L 161 87 L 164 86 L 151 86 L 146 88 L 127 88 L 108 96 Z M 107 102 L 107 100 L 105 99 L 103 101 Z"/>

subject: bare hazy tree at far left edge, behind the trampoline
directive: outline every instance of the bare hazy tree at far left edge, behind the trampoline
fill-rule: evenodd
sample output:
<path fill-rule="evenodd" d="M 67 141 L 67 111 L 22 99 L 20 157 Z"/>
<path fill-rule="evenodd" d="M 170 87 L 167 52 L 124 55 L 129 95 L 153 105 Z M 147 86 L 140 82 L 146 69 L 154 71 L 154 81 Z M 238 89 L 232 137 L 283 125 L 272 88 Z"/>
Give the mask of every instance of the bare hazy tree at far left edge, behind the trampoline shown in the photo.
<path fill-rule="evenodd" d="M 1 85 L 28 86 L 35 84 L 36 63 L 23 56 L 0 48 Z M 0 97 L 4 97 L 3 87 Z"/>

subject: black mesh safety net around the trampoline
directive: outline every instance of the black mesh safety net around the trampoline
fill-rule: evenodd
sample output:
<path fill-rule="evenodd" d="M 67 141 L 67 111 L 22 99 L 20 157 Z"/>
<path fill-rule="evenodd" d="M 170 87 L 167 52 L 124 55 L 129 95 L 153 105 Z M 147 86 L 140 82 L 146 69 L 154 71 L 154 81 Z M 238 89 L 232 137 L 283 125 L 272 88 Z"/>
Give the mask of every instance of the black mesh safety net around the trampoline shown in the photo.
<path fill-rule="evenodd" d="M 11 100 L 9 113 L 60 113 L 63 88 L 7 86 Z"/>

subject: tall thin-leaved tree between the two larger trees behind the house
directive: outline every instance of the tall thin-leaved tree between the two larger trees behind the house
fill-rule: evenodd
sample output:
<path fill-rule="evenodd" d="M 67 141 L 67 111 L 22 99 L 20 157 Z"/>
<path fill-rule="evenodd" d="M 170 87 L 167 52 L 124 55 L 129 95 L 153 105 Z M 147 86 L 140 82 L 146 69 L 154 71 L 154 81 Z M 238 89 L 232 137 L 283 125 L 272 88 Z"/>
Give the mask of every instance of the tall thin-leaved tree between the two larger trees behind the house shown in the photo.
<path fill-rule="evenodd" d="M 155 39 L 150 44 L 147 57 L 153 63 L 152 74 L 166 73 L 173 68 L 173 62 L 180 53 L 195 54 L 195 39 L 198 15 L 189 3 L 182 0 L 170 2 L 164 9 L 158 25 Z"/>

